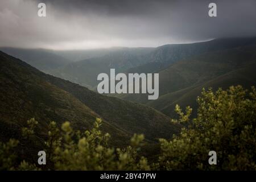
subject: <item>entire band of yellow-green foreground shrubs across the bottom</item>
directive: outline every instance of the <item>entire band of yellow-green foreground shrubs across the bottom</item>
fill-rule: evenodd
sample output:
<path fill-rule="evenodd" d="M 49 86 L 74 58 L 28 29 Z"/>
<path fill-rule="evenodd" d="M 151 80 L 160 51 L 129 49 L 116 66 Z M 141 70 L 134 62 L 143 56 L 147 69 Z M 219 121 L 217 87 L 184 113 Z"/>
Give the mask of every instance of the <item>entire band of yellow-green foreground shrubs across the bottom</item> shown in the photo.
<path fill-rule="evenodd" d="M 172 122 L 190 124 L 171 140 L 159 140 L 161 150 L 156 163 L 141 156 L 143 135 L 134 134 L 128 147 L 110 147 L 110 135 L 100 131 L 102 121 L 97 118 L 93 129 L 84 133 L 73 130 L 69 122 L 63 123 L 61 128 L 55 122 L 49 123 L 44 142 L 47 165 L 43 167 L 25 161 L 15 163 L 19 158 L 11 150 L 18 145 L 17 140 L 0 143 L 0 169 L 255 170 L 255 88 L 250 92 L 242 86 L 217 92 L 203 90 L 197 102 L 199 107 L 194 119 L 190 119 L 191 107 L 183 113 L 176 106 L 179 118 Z M 22 129 L 23 137 L 35 140 L 36 125 L 38 122 L 30 119 L 28 127 Z M 208 152 L 212 150 L 217 152 L 217 165 L 208 163 Z"/>

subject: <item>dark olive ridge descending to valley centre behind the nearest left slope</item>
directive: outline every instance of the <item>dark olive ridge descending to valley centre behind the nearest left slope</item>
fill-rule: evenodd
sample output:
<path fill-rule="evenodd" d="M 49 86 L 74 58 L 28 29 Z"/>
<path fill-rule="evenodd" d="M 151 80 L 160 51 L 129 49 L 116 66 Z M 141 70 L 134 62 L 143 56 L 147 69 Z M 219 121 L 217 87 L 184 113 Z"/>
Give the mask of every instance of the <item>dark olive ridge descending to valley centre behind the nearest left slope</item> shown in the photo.
<path fill-rule="evenodd" d="M 179 125 L 171 124 L 170 118 L 152 107 L 103 96 L 72 82 L 45 76 L 47 81 L 71 93 L 102 118 L 127 133 L 143 133 L 148 139 L 170 138 L 180 129 Z"/>

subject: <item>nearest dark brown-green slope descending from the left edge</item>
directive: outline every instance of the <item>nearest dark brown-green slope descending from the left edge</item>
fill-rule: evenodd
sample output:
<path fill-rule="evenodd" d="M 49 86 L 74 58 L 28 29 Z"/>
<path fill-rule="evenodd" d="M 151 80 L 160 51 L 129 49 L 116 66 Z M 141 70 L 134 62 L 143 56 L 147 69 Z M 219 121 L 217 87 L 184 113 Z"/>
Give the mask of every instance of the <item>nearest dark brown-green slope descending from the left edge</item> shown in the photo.
<path fill-rule="evenodd" d="M 1 59 L 1 138 L 13 137 L 20 127 L 26 126 L 27 119 L 39 121 L 39 135 L 47 131 L 50 121 L 63 123 L 71 121 L 75 129 L 92 127 L 96 114 L 92 109 L 43 78 L 28 71 L 27 64 L 3 53 Z M 104 121 L 104 131 L 116 137 L 127 134 Z M 121 142 L 121 141 L 119 141 Z"/>

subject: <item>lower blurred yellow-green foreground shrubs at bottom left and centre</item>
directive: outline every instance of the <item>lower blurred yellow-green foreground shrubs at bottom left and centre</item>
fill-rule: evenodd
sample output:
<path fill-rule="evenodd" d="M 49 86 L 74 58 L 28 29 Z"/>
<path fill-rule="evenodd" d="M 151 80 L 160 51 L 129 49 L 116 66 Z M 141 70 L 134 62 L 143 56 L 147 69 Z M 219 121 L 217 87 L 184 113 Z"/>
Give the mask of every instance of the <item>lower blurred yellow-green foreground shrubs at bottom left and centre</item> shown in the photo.
<path fill-rule="evenodd" d="M 94 127 L 90 131 L 81 133 L 74 131 L 71 123 L 65 122 L 61 129 L 55 122 L 49 123 L 48 139 L 45 142 L 47 154 L 47 167 L 43 169 L 55 170 L 149 170 L 147 159 L 139 157 L 144 139 L 143 135 L 134 134 L 131 138 L 131 146 L 126 148 L 113 148 L 108 146 L 110 135 L 102 134 L 99 130 L 101 119 L 97 118 Z M 28 127 L 22 129 L 23 137 L 30 139 L 34 134 L 38 122 L 30 119 Z M 10 149 L 18 143 L 10 140 L 1 143 L 0 159 L 1 169 L 40 170 L 35 164 L 22 161 L 18 167 L 13 167 L 14 155 L 10 155 Z"/>

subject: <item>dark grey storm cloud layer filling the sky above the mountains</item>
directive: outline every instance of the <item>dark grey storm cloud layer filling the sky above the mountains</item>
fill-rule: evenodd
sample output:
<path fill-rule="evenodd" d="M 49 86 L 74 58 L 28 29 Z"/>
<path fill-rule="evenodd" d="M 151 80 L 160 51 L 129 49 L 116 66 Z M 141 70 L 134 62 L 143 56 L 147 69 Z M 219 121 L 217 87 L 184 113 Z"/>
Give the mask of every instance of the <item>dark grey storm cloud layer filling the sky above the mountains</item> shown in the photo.
<path fill-rule="evenodd" d="M 47 5 L 47 17 L 37 5 Z M 210 2 L 217 17 L 208 16 Z M 0 46 L 55 49 L 160 46 L 256 36 L 255 0 L 3 0 Z"/>

